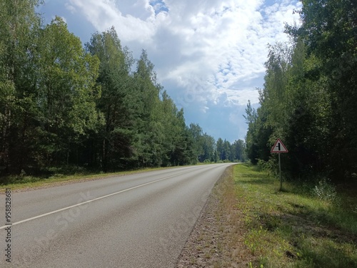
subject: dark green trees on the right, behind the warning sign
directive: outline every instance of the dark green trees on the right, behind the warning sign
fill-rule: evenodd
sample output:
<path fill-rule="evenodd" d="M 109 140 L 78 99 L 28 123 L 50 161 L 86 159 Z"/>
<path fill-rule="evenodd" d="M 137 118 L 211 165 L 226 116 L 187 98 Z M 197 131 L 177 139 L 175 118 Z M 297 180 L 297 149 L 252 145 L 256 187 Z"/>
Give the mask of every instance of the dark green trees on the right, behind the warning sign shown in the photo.
<path fill-rule="evenodd" d="M 288 180 L 357 174 L 357 5 L 303 0 L 290 41 L 269 46 L 260 107 L 248 102 L 246 146 L 254 164 L 276 170 L 270 150 L 281 138 Z"/>

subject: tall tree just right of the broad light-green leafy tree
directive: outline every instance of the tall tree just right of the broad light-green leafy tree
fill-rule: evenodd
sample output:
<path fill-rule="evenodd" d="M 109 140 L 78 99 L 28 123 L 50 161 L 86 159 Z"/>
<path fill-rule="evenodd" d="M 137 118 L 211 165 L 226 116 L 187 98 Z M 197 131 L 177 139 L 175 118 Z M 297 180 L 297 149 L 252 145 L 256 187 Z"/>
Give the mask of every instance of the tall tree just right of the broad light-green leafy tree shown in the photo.
<path fill-rule="evenodd" d="M 101 98 L 96 108 L 104 115 L 104 125 L 90 138 L 94 150 L 88 164 L 99 165 L 104 171 L 116 170 L 126 164 L 134 151 L 134 119 L 138 113 L 137 93 L 131 94 L 130 71 L 134 61 L 131 53 L 121 47 L 114 28 L 94 33 L 85 46 L 100 61 L 96 85 L 101 88 Z"/>

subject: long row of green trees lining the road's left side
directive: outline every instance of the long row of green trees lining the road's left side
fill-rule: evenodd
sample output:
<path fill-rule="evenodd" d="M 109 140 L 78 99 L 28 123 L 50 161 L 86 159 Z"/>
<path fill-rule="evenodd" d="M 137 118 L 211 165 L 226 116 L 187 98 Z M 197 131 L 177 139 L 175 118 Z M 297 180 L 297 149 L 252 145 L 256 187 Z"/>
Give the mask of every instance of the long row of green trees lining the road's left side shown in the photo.
<path fill-rule="evenodd" d="M 44 25 L 39 0 L 0 3 L 1 176 L 246 160 L 243 140 L 186 125 L 114 28 L 81 43 L 60 17 Z"/>

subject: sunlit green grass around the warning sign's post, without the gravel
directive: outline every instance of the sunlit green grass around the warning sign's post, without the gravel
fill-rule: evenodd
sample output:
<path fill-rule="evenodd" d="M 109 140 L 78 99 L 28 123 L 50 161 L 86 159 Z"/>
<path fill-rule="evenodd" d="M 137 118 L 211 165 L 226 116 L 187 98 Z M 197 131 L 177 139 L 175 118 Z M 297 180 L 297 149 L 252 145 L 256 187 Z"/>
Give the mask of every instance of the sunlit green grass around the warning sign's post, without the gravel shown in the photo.
<path fill-rule="evenodd" d="M 287 182 L 280 192 L 276 178 L 247 164 L 235 166 L 234 181 L 252 267 L 357 267 L 356 195 L 321 200 L 313 186 Z"/>

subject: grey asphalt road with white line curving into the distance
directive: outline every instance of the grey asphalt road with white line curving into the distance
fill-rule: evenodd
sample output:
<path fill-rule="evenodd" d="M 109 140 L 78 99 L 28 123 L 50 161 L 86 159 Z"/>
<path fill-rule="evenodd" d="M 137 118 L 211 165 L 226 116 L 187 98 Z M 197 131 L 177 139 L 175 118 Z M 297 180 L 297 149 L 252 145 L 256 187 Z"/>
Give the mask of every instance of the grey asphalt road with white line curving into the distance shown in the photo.
<path fill-rule="evenodd" d="M 174 267 L 213 185 L 202 165 L 0 196 L 0 267 Z M 11 263 L 6 237 L 11 239 Z"/>

